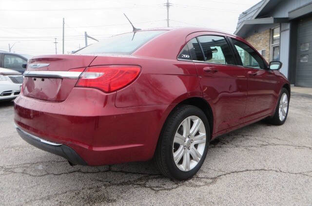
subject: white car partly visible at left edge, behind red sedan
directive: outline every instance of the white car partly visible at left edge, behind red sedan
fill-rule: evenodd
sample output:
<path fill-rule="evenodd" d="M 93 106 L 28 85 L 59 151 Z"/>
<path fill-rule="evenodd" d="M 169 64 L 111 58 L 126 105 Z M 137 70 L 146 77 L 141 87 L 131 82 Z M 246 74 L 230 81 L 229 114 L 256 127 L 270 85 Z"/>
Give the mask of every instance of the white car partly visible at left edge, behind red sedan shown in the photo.
<path fill-rule="evenodd" d="M 0 102 L 14 100 L 20 94 L 23 81 L 20 72 L 0 68 Z"/>

